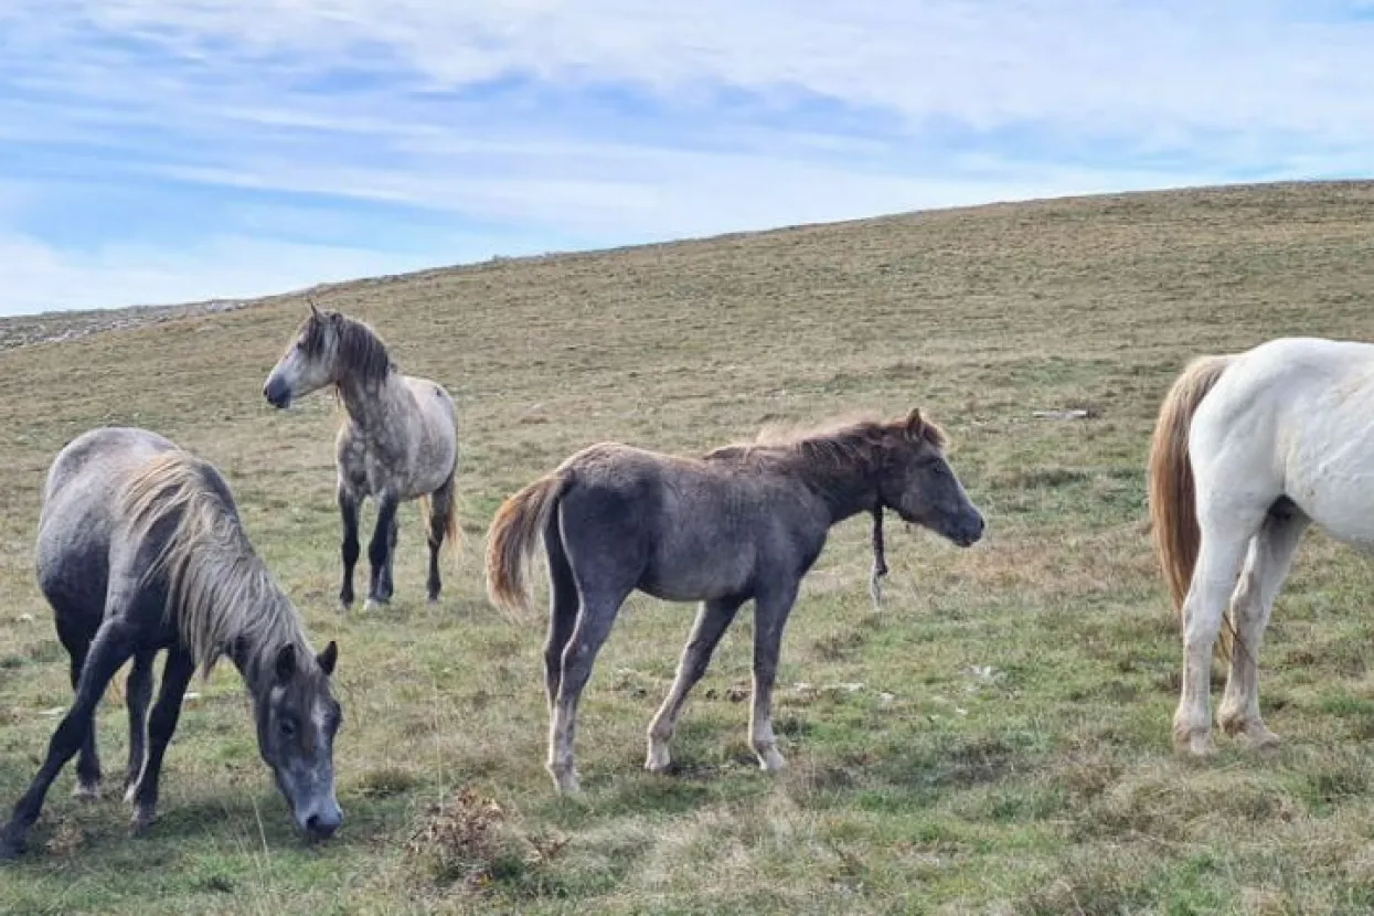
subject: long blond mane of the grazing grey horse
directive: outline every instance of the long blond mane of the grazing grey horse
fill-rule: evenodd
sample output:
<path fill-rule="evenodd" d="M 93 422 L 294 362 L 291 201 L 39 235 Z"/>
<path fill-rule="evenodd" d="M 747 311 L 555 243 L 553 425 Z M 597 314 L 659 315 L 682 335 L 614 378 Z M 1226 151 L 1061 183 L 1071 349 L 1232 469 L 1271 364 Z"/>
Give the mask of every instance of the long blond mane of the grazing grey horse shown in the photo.
<path fill-rule="evenodd" d="M 284 644 L 309 652 L 300 612 L 253 551 L 209 464 L 181 449 L 144 466 L 120 493 L 133 538 L 172 525 L 146 580 L 166 575 L 166 614 L 203 676 L 231 645 L 256 670 Z"/>

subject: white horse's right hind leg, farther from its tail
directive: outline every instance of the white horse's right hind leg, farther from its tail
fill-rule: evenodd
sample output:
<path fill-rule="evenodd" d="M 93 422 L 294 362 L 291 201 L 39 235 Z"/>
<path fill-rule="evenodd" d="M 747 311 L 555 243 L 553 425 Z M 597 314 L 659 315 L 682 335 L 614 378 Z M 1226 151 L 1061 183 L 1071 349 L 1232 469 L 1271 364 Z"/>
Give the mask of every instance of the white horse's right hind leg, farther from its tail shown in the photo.
<path fill-rule="evenodd" d="M 1241 584 L 1231 596 L 1231 619 L 1237 634 L 1217 722 L 1226 733 L 1245 735 L 1257 747 L 1279 743 L 1278 736 L 1260 718 L 1260 645 L 1274 599 L 1287 577 L 1307 525 L 1304 515 L 1271 512 L 1260 533 L 1250 541 Z"/>

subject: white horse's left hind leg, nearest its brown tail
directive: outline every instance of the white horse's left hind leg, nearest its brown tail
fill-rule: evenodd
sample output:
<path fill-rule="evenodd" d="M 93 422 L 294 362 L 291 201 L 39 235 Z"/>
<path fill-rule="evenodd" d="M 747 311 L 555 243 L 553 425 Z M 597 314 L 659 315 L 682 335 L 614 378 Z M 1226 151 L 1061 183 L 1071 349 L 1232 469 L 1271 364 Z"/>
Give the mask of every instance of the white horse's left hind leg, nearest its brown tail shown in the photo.
<path fill-rule="evenodd" d="M 1197 755 L 1209 754 L 1213 747 L 1208 713 L 1212 651 L 1241 560 L 1264 520 L 1264 511 L 1248 514 L 1228 505 L 1226 511 L 1212 508 L 1200 516 L 1201 545 L 1183 600 L 1183 687 L 1173 713 L 1175 747 Z"/>

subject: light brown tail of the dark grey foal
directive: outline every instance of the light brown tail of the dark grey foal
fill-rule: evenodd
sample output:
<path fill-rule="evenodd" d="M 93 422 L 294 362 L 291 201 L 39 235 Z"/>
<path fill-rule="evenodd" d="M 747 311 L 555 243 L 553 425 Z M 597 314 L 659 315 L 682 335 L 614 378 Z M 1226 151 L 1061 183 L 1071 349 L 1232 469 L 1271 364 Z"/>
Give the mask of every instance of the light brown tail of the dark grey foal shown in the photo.
<path fill-rule="evenodd" d="M 508 497 L 486 531 L 486 597 L 507 614 L 529 611 L 525 566 L 572 478 L 555 471 Z"/>

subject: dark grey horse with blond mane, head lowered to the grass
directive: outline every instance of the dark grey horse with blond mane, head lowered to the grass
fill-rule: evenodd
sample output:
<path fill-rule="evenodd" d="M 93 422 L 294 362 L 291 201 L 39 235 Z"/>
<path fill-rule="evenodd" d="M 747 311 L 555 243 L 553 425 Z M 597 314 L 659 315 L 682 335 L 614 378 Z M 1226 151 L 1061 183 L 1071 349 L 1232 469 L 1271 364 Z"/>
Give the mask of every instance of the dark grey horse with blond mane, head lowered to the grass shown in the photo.
<path fill-rule="evenodd" d="M 341 711 L 330 694 L 338 648 L 311 650 L 213 466 L 146 430 L 80 435 L 48 471 L 37 566 L 71 656 L 76 700 L 0 828 L 0 860 L 23 850 L 48 787 L 78 751 L 77 794 L 99 792 L 95 710 L 131 658 L 125 798 L 135 831 L 155 817 L 162 755 L 191 676 L 196 667 L 209 674 L 228 655 L 253 696 L 258 750 L 297 825 L 313 836 L 334 832 L 344 818 L 334 798 Z M 162 687 L 148 718 L 153 661 L 164 648 Z"/>

